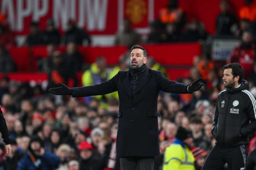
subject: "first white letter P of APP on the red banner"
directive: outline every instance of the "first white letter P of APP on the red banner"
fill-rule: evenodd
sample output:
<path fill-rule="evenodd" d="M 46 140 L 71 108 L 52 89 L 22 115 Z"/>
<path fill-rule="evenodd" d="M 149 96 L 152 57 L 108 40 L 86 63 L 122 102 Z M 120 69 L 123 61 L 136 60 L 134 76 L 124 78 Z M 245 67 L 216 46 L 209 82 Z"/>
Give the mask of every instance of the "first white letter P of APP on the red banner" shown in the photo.
<path fill-rule="evenodd" d="M 23 3 L 26 2 L 26 8 L 23 8 Z M 31 0 L 17 0 L 17 31 L 22 31 L 24 28 L 24 18 L 31 14 Z"/>

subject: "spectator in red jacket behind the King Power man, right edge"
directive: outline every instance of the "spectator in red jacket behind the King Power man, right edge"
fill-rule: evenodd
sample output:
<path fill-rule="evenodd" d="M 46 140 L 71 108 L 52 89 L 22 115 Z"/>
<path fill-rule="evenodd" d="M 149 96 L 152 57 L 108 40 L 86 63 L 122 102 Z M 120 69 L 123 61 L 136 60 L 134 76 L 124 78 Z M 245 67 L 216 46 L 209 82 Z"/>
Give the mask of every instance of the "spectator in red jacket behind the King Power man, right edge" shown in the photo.
<path fill-rule="evenodd" d="M 242 43 L 236 47 L 228 63 L 238 62 L 244 69 L 244 78 L 247 79 L 253 72 L 255 60 L 255 45 L 253 43 L 253 34 L 246 30 L 243 32 Z"/>

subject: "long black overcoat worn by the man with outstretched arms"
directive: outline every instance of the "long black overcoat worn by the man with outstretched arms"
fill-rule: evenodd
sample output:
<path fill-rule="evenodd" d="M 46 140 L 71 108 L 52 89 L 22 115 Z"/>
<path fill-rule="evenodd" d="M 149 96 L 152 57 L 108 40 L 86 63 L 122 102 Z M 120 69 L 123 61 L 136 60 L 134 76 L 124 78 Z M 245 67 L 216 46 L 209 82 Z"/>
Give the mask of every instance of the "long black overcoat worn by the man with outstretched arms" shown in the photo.
<path fill-rule="evenodd" d="M 131 92 L 128 71 L 119 71 L 98 85 L 75 87 L 73 97 L 105 95 L 118 91 L 119 112 L 117 157 L 159 155 L 157 99 L 159 91 L 188 93 L 187 85 L 146 68 L 135 91 Z M 133 93 L 133 97 L 131 96 Z"/>

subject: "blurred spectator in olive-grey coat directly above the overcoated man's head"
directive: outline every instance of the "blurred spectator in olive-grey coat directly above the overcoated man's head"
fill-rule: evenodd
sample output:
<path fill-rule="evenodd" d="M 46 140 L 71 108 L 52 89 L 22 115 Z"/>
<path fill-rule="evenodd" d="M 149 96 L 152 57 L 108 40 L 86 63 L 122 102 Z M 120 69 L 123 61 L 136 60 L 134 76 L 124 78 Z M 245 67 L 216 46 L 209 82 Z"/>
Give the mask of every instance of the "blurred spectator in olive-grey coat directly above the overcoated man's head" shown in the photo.
<path fill-rule="evenodd" d="M 116 45 L 135 45 L 140 43 L 141 37 L 131 27 L 131 21 L 123 21 L 123 30 L 115 35 Z"/>

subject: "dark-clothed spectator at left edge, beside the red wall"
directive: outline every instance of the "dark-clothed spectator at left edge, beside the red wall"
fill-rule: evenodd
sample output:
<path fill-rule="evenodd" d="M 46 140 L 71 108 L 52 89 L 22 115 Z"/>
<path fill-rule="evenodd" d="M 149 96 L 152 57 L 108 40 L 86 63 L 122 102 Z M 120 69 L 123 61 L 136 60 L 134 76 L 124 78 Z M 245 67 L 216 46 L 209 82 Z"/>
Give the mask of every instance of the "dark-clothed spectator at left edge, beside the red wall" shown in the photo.
<path fill-rule="evenodd" d="M 13 62 L 9 52 L 3 46 L 0 46 L 0 72 L 9 73 L 16 71 L 16 65 Z"/>

